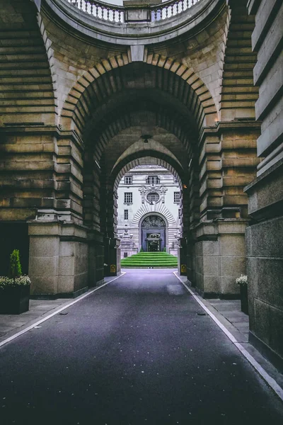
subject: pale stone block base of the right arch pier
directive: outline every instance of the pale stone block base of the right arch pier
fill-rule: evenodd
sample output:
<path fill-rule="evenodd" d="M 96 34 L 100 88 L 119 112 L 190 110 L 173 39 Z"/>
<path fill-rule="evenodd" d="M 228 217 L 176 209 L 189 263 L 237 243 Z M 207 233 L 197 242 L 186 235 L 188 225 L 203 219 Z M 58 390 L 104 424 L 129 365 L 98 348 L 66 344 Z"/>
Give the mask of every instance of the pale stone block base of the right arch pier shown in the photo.
<path fill-rule="evenodd" d="M 213 220 L 195 229 L 190 278 L 203 297 L 239 298 L 236 278 L 246 274 L 248 220 Z"/>

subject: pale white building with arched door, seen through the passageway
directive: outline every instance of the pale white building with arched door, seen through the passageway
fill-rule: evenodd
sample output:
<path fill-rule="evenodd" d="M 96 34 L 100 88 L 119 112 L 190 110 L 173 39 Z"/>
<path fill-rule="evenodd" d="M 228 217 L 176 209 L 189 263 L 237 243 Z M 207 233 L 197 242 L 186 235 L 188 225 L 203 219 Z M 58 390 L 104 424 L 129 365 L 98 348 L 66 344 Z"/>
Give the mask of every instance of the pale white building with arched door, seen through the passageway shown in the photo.
<path fill-rule="evenodd" d="M 137 166 L 118 187 L 117 233 L 121 256 L 143 251 L 178 254 L 181 231 L 181 191 L 162 166 Z"/>

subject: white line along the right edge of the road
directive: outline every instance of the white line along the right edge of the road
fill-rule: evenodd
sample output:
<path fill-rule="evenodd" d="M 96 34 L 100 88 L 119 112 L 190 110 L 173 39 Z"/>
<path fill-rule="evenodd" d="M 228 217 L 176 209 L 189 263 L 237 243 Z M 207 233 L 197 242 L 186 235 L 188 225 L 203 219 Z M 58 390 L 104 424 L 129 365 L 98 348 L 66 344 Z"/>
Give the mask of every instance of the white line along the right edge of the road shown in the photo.
<path fill-rule="evenodd" d="M 178 274 L 177 274 L 178 272 L 173 271 L 173 273 L 175 274 L 176 278 L 178 278 L 178 280 L 180 280 L 180 283 L 182 283 L 182 285 L 185 286 L 185 288 L 192 295 L 192 297 L 200 304 L 200 306 L 204 309 L 204 311 L 207 312 L 207 314 L 209 314 L 209 316 L 214 320 L 214 322 L 217 324 L 217 326 L 219 326 L 221 331 L 223 331 L 224 334 L 226 334 L 226 336 L 228 336 L 230 341 L 233 342 L 233 344 L 236 346 L 236 348 L 238 348 L 239 351 L 241 351 L 243 356 L 246 357 L 246 359 L 248 360 L 248 362 L 250 362 L 250 364 L 253 366 L 253 368 L 255 368 L 255 370 L 260 374 L 260 376 L 265 380 L 265 382 L 267 382 L 267 384 L 272 388 L 272 390 L 274 392 L 276 392 L 278 397 L 280 399 L 282 399 L 282 401 L 283 401 L 283 389 L 282 389 L 282 387 L 280 387 L 277 384 L 277 382 L 262 368 L 260 363 L 258 363 L 255 360 L 255 358 L 253 358 L 253 356 L 250 355 L 250 353 L 248 353 L 246 348 L 243 348 L 243 346 L 236 340 L 235 336 L 233 336 L 231 334 L 231 332 L 229 332 L 229 330 L 226 329 L 226 327 L 224 327 L 224 324 L 219 322 L 219 320 L 214 316 L 214 314 L 204 305 L 202 300 L 200 300 L 200 298 L 197 295 L 195 295 L 192 292 L 192 290 L 190 290 L 190 288 L 178 276 Z"/>

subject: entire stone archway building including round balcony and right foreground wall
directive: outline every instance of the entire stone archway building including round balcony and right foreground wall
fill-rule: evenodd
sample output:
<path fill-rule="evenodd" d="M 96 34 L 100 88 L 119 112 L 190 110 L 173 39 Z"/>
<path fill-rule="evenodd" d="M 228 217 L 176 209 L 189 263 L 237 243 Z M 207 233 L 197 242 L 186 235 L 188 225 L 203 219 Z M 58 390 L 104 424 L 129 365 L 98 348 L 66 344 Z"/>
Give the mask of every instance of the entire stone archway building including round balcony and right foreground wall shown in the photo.
<path fill-rule="evenodd" d="M 97 285 L 121 179 L 163 166 L 187 278 L 238 297 L 247 273 L 250 341 L 283 362 L 282 0 L 0 3 L 1 259 L 25 253 L 33 296 Z"/>

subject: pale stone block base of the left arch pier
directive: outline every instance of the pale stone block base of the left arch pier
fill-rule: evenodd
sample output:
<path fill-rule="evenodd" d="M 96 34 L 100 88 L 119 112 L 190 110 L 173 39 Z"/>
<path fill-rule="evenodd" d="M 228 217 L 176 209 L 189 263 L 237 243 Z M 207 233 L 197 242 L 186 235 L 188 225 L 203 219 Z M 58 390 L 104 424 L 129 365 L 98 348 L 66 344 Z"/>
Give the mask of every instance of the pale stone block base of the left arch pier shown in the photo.
<path fill-rule="evenodd" d="M 103 280 L 103 249 L 89 242 L 85 227 L 37 220 L 28 226 L 32 297 L 74 297 Z"/>

